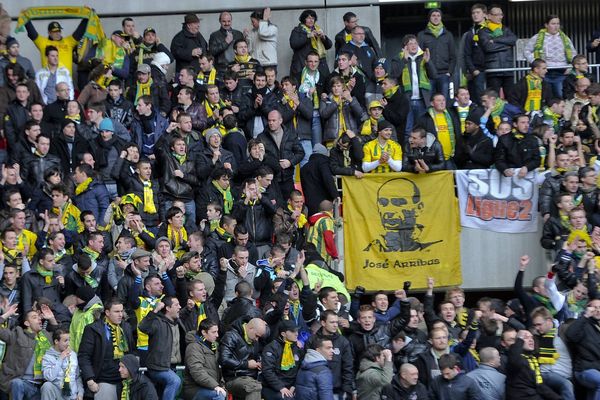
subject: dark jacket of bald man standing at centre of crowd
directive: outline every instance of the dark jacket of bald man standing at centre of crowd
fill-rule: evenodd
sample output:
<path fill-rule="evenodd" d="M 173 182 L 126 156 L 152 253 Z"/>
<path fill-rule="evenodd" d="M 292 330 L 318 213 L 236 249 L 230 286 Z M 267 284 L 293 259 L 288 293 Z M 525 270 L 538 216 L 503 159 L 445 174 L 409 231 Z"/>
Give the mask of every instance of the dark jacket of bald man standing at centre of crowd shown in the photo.
<path fill-rule="evenodd" d="M 258 135 L 257 139 L 265 145 L 264 163 L 273 170 L 275 181 L 285 182 L 294 179 L 295 166 L 304 158 L 304 150 L 300 145 L 298 136 L 284 129 L 280 147 L 277 147 L 275 139 L 273 139 L 268 129 Z M 292 165 L 289 168 L 282 169 L 279 160 L 283 159 L 289 160 Z"/>

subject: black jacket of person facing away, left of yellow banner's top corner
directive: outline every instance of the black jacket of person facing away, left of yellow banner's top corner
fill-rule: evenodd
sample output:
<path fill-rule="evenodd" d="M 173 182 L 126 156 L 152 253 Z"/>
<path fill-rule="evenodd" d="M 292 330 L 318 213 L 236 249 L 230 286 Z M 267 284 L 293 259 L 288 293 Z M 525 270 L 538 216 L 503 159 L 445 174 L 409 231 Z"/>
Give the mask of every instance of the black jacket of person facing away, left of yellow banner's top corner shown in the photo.
<path fill-rule="evenodd" d="M 300 181 L 309 216 L 319 212 L 321 201 L 333 201 L 338 197 L 335 178 L 329 167 L 329 157 L 324 154 L 313 153 L 310 156 L 308 162 L 300 168 Z"/>

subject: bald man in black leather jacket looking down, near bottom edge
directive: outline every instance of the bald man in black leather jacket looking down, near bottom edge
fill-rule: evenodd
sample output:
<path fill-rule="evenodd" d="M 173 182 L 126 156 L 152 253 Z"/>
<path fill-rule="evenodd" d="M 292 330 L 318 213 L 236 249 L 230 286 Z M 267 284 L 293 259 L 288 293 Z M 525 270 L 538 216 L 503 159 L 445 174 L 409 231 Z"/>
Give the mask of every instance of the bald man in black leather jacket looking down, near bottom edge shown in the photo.
<path fill-rule="evenodd" d="M 262 385 L 258 381 L 261 345 L 267 323 L 261 318 L 240 318 L 225 333 L 219 346 L 219 364 L 225 388 L 235 398 L 260 400 Z"/>

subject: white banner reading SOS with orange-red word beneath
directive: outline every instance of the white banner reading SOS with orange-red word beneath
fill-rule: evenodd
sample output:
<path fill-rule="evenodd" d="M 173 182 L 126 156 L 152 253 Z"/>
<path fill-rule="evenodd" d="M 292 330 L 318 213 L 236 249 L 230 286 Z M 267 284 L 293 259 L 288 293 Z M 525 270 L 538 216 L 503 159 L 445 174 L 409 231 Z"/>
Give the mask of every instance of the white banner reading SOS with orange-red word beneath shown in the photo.
<path fill-rule="evenodd" d="M 467 228 L 503 233 L 536 232 L 536 173 L 506 177 L 497 169 L 455 171 L 460 223 Z"/>

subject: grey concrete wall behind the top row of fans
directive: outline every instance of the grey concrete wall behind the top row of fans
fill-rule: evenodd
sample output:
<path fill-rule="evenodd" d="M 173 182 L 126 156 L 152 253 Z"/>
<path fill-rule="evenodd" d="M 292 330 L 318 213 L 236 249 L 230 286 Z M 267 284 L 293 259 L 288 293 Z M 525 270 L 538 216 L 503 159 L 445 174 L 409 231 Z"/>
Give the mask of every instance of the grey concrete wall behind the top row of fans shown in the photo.
<path fill-rule="evenodd" d="M 340 3 L 341 0 L 338 0 Z M 353 3 L 358 3 L 358 0 L 351 0 Z M 83 2 L 73 0 L 55 0 L 55 1 L 32 1 L 24 0 L 21 2 L 11 1 L 4 4 L 9 14 L 16 19 L 22 8 L 30 6 L 42 5 L 81 5 Z M 167 45 L 170 46 L 171 39 L 177 32 L 181 30 L 183 17 L 187 12 L 195 11 L 202 18 L 200 31 L 208 41 L 210 33 L 219 28 L 218 11 L 223 7 L 220 2 L 192 2 L 192 1 L 160 1 L 160 2 L 140 2 L 140 1 L 122 1 L 122 2 L 100 2 L 90 0 L 87 2 L 94 7 L 102 18 L 102 24 L 107 34 L 121 28 L 121 20 L 125 16 L 135 15 L 134 20 L 137 30 L 142 32 L 146 27 L 152 26 L 156 29 L 158 37 Z M 328 1 L 327 4 L 330 4 Z M 361 1 L 361 3 L 365 3 Z M 141 9 L 140 4 L 144 7 Z M 302 3 L 303 8 L 298 9 L 282 9 L 289 8 L 291 3 L 289 0 L 269 0 L 268 4 L 273 8 L 272 22 L 279 28 L 279 76 L 287 75 L 289 64 L 292 58 L 292 51 L 289 47 L 289 36 L 292 29 L 298 25 L 298 17 L 305 8 L 314 8 L 318 15 L 318 24 L 323 28 L 326 34 L 333 40 L 337 32 L 343 28 L 342 15 L 346 13 L 348 8 L 323 8 L 324 1 L 307 0 Z M 252 9 L 260 9 L 265 7 L 265 2 L 249 0 L 249 1 L 228 1 L 227 6 L 230 10 L 244 9 L 245 11 L 232 12 L 233 27 L 240 31 L 250 27 L 250 11 Z M 294 6 L 292 6 L 294 7 Z M 198 12 L 202 10 L 214 10 L 213 12 Z M 379 7 L 378 6 L 362 6 L 352 7 L 359 18 L 360 23 L 371 27 L 373 34 L 379 39 Z M 34 25 L 41 34 L 46 33 L 48 20 L 35 21 Z M 78 24 L 78 20 L 65 19 L 61 20 L 64 27 L 64 32 L 69 34 Z M 13 30 L 16 23 L 13 22 Z M 40 58 L 37 49 L 33 43 L 27 38 L 26 33 L 16 35 L 21 44 L 22 54 L 29 57 L 34 66 L 40 66 Z M 333 48 L 329 52 L 328 59 L 331 66 L 333 65 L 334 52 Z"/>

